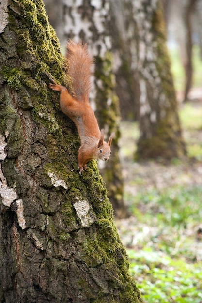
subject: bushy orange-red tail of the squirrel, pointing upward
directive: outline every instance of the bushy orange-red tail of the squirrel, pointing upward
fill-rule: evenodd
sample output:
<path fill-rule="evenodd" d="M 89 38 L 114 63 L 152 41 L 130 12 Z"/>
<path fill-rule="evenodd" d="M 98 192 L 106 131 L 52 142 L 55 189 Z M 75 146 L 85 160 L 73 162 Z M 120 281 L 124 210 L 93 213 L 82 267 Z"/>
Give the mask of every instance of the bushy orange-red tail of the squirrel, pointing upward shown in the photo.
<path fill-rule="evenodd" d="M 89 55 L 86 43 L 69 40 L 66 46 L 66 58 L 73 94 L 79 101 L 88 102 L 92 87 L 93 57 Z"/>

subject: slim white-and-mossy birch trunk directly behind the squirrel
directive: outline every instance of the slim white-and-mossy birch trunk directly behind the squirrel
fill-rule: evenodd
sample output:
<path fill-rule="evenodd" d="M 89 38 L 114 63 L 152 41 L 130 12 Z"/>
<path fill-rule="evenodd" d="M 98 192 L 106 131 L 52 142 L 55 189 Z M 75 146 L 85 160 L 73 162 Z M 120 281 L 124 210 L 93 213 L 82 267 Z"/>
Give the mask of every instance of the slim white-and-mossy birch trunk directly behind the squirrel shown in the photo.
<path fill-rule="evenodd" d="M 109 0 L 83 1 L 83 4 L 65 2 L 64 30 L 66 39 L 82 39 L 87 42 L 95 59 L 95 89 L 91 95 L 91 103 L 100 128 L 105 129 L 108 137 L 112 131 L 115 132 L 111 158 L 106 163 L 100 162 L 100 171 L 106 182 L 108 197 L 115 215 L 123 218 L 127 216 L 127 208 L 123 200 L 124 182 L 119 159 L 120 110 L 112 71 L 109 4 Z"/>

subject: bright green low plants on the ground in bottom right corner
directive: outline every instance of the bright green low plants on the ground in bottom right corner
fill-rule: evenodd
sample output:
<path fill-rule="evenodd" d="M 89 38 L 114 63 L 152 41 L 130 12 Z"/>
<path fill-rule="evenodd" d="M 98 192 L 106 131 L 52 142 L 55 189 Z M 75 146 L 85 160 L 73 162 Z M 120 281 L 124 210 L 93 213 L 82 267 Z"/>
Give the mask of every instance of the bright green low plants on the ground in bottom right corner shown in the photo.
<path fill-rule="evenodd" d="M 130 273 L 146 303 L 201 303 L 202 268 L 145 248 L 128 250 Z M 202 264 L 201 264 L 202 266 Z"/>

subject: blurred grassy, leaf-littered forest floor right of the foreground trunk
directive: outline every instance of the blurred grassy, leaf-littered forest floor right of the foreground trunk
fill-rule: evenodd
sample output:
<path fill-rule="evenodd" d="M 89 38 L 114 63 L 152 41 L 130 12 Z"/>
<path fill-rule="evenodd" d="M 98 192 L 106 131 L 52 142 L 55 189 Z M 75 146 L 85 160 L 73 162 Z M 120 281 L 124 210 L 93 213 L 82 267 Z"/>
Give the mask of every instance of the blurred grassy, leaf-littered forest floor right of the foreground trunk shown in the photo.
<path fill-rule="evenodd" d="M 146 303 L 202 303 L 202 100 L 180 106 L 187 156 L 134 162 L 136 123 L 122 122 L 124 200 L 116 220 Z"/>

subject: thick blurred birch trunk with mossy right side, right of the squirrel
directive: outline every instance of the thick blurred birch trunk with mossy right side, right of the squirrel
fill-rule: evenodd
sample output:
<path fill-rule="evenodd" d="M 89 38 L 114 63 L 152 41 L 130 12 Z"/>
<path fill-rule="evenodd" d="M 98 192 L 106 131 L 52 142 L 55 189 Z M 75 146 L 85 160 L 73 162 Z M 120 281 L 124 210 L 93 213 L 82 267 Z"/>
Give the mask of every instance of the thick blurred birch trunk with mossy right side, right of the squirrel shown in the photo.
<path fill-rule="evenodd" d="M 137 4 L 137 3 L 136 3 Z M 160 1 L 134 5 L 140 76 L 140 139 L 138 158 L 171 159 L 186 153 L 166 48 Z"/>

